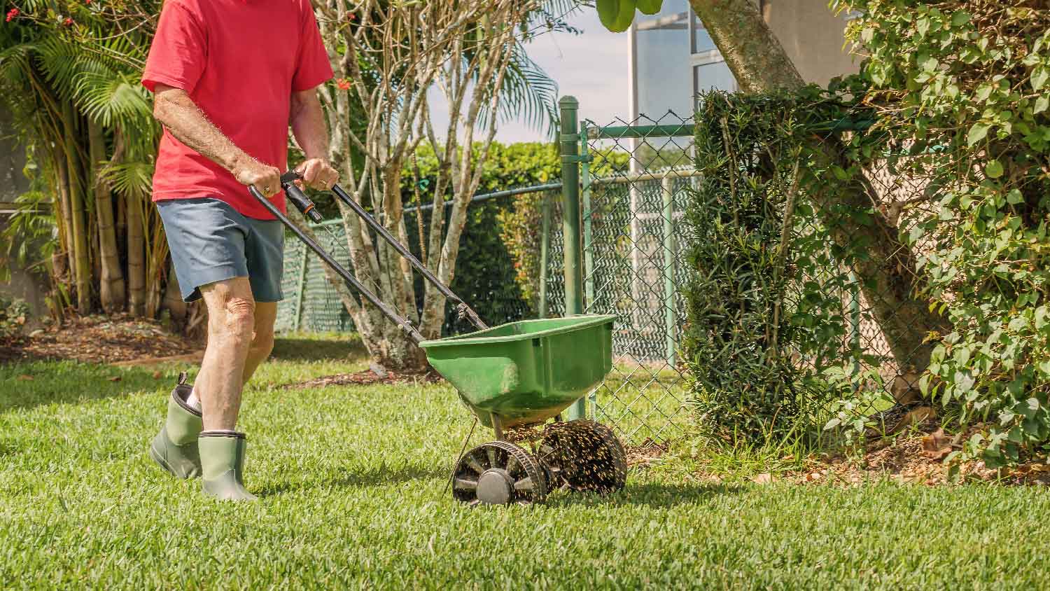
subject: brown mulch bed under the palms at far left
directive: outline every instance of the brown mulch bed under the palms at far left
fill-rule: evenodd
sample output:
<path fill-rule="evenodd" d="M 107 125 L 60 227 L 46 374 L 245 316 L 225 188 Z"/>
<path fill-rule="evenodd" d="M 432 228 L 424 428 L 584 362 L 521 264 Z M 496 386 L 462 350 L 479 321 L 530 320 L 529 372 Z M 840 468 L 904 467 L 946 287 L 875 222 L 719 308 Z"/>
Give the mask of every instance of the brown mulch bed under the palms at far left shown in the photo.
<path fill-rule="evenodd" d="M 69 359 L 82 363 L 116 363 L 144 358 L 193 354 L 204 347 L 173 335 L 153 320 L 126 316 L 85 316 L 32 336 L 0 342 L 0 363 Z"/>

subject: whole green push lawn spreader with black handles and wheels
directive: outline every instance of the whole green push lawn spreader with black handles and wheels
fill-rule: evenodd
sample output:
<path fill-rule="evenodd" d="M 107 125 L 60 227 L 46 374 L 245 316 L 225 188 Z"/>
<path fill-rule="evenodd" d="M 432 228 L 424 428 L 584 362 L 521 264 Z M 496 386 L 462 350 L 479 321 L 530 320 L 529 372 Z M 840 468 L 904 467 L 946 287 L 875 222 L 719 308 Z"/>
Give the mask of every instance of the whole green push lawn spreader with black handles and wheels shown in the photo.
<path fill-rule="evenodd" d="M 296 185 L 281 176 L 288 200 L 306 217 L 322 216 Z M 404 257 L 477 332 L 425 339 L 412 322 L 380 300 L 255 187 L 270 213 L 314 251 L 360 297 L 378 308 L 418 346 L 460 400 L 496 440 L 460 455 L 450 477 L 453 497 L 476 505 L 541 503 L 555 488 L 611 492 L 624 487 L 627 460 L 612 430 L 594 421 L 563 421 L 562 411 L 586 396 L 612 368 L 614 316 L 580 315 L 521 320 L 495 328 L 442 283 L 408 249 L 339 185 L 335 196 Z"/>

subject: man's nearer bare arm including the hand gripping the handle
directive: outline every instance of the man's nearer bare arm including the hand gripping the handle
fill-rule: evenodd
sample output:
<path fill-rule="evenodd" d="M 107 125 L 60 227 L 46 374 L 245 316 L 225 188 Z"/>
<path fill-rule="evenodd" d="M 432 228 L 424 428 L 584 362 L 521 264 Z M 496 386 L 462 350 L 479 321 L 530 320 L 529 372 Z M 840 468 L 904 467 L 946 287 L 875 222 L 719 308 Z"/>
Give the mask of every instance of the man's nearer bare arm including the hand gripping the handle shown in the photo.
<path fill-rule="evenodd" d="M 254 185 L 270 197 L 280 191 L 280 171 L 238 148 L 181 88 L 156 85 L 153 117 L 180 142 L 229 170 L 238 183 Z"/>

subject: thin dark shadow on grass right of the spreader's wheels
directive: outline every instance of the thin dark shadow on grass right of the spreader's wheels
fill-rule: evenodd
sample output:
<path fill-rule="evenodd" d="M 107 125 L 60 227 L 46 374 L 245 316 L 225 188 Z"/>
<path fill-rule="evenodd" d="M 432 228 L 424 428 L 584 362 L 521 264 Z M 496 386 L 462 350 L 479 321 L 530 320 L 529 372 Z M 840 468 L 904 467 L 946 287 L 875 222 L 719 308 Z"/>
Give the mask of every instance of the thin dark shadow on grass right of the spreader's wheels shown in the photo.
<path fill-rule="evenodd" d="M 675 507 L 689 503 L 701 503 L 714 497 L 739 494 L 742 486 L 726 484 L 628 484 L 620 492 L 597 494 L 594 492 L 559 492 L 547 498 L 550 507 L 573 507 L 593 505 L 646 505 L 649 507 Z"/>

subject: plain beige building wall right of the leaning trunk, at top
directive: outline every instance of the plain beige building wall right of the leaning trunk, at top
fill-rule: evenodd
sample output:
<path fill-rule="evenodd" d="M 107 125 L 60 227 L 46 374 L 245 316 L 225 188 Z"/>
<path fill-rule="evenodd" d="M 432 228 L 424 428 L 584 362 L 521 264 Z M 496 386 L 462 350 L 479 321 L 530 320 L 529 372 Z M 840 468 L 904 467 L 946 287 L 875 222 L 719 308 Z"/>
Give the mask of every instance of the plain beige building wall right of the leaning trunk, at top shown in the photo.
<path fill-rule="evenodd" d="M 806 82 L 823 86 L 858 70 L 860 60 L 844 45 L 845 16 L 835 15 L 827 0 L 765 0 L 762 13 Z"/>

